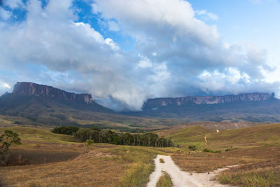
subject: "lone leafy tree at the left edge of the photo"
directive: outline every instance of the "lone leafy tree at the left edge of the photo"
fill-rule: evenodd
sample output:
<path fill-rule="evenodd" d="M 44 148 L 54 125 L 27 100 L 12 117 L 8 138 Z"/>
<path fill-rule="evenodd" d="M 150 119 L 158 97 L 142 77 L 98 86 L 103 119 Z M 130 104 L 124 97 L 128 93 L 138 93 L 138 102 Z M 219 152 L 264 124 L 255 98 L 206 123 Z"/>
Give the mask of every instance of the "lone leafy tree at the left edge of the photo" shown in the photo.
<path fill-rule="evenodd" d="M 6 158 L 6 155 L 8 153 L 8 148 L 12 144 L 22 144 L 20 142 L 20 138 L 18 137 L 18 134 L 11 131 L 11 130 L 5 130 L 4 134 L 0 137 L 0 158 L 1 161 L 3 161 L 4 158 Z"/>

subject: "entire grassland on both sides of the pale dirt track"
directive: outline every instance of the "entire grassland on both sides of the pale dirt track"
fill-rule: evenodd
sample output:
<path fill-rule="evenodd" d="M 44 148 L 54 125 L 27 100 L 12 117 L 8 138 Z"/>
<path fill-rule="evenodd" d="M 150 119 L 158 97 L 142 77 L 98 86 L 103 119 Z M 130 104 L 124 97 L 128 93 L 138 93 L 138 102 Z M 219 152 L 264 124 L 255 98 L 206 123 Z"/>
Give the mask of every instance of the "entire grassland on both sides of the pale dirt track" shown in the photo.
<path fill-rule="evenodd" d="M 0 133 L 5 129 L 0 128 Z M 22 145 L 11 148 L 14 153 L 21 150 L 34 154 L 37 151 L 42 154 L 38 156 L 41 160 L 48 155 L 47 152 L 76 155 L 64 156 L 67 160 L 39 162 L 40 165 L 0 167 L 0 177 L 5 185 L 145 186 L 154 169 L 153 158 L 158 153 L 172 155 L 176 165 L 188 172 L 209 172 L 228 165 L 239 165 L 221 173 L 217 177 L 221 183 L 280 185 L 280 124 L 222 130 L 219 133 L 197 126 L 158 131 L 179 144 L 174 148 L 110 144 L 87 146 L 71 142 L 71 136 L 52 134 L 49 130 L 30 127 L 10 129 L 22 138 Z M 191 145 L 196 146 L 195 151 L 188 148 Z M 204 153 L 204 148 L 221 153 Z M 159 185 L 168 186 L 169 181 L 167 176 L 162 176 Z"/>

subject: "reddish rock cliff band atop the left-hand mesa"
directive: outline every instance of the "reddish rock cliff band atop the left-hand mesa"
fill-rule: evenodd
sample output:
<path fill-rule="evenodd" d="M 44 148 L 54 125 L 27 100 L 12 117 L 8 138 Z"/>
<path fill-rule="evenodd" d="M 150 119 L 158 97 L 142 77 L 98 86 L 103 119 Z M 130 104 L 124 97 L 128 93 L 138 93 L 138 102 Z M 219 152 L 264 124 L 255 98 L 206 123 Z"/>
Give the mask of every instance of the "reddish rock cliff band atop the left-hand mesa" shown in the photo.
<path fill-rule="evenodd" d="M 16 83 L 13 92 L 14 95 L 50 97 L 64 102 L 73 102 L 79 104 L 93 104 L 90 94 L 75 94 L 59 90 L 48 85 L 38 85 L 36 83 L 20 82 Z"/>

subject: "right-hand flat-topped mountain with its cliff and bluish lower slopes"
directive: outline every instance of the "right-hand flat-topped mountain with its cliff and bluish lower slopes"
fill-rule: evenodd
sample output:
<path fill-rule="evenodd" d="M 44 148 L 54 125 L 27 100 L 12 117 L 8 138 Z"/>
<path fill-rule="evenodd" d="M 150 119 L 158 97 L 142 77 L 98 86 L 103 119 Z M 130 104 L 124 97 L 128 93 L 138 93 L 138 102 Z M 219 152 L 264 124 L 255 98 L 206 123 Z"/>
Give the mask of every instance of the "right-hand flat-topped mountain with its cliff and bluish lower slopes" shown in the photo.
<path fill-rule="evenodd" d="M 244 93 L 224 96 L 189 96 L 148 99 L 142 111 L 132 116 L 180 118 L 195 121 L 279 122 L 280 100 L 274 93 Z"/>

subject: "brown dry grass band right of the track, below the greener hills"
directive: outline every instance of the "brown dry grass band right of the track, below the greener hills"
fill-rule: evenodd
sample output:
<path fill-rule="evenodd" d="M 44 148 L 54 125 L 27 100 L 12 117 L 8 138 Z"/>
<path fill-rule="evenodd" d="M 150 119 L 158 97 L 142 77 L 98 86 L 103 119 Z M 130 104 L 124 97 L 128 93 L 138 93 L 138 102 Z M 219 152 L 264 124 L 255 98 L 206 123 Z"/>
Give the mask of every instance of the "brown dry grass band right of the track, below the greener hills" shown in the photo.
<path fill-rule="evenodd" d="M 229 165 L 246 165 L 280 158 L 279 146 L 239 148 L 223 153 L 181 152 L 173 153 L 172 159 L 186 171 L 209 172 Z"/>

